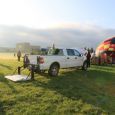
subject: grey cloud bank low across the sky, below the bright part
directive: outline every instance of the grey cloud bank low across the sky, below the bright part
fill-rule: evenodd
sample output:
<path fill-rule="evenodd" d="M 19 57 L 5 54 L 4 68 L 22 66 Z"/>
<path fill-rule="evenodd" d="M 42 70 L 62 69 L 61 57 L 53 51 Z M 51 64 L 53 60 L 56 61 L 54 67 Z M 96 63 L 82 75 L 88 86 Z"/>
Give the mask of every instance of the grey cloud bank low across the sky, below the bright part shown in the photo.
<path fill-rule="evenodd" d="M 0 46 L 15 47 L 19 42 L 30 42 L 41 47 L 90 47 L 96 48 L 100 42 L 115 35 L 114 29 L 97 26 L 65 27 L 55 29 L 31 29 L 19 26 L 0 26 Z"/>

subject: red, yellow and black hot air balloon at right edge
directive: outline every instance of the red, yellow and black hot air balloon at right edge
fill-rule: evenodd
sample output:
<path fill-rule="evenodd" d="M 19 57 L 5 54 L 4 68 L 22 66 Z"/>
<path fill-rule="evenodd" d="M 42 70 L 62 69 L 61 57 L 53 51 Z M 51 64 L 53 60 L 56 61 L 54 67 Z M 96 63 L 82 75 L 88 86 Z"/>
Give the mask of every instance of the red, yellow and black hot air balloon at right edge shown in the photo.
<path fill-rule="evenodd" d="M 103 41 L 96 49 L 96 56 L 107 63 L 115 63 L 115 37 Z"/>

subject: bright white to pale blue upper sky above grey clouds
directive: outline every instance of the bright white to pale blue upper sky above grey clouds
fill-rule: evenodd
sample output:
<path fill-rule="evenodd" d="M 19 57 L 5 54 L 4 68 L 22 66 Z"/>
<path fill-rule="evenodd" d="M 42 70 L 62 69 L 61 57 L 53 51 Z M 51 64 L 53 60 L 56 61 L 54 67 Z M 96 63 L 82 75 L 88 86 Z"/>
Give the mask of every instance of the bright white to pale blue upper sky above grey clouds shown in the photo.
<path fill-rule="evenodd" d="M 55 28 L 91 24 L 115 28 L 115 0 L 0 0 L 0 25 Z"/>

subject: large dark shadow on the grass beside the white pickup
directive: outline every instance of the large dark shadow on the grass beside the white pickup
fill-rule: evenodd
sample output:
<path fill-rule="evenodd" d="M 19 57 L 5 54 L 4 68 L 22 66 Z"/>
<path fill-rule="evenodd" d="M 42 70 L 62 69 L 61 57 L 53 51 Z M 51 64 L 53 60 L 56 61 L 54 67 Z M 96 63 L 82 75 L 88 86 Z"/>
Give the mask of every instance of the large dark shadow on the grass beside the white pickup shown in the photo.
<path fill-rule="evenodd" d="M 62 72 L 59 77 L 49 77 L 46 75 L 48 83 L 33 81 L 35 87 L 43 87 L 55 90 L 73 100 L 82 99 L 83 102 L 101 107 L 109 113 L 115 113 L 115 97 L 111 97 L 104 87 L 108 82 L 115 80 L 114 73 L 103 72 L 100 70 L 73 70 Z M 113 105 L 114 104 L 114 105 Z"/>

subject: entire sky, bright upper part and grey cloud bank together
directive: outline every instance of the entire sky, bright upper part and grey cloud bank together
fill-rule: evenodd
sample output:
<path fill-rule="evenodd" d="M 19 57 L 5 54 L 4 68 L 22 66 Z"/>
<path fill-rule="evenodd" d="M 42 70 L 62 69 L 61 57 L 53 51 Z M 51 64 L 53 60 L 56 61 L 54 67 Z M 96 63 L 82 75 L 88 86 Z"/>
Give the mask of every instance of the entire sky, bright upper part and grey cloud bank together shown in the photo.
<path fill-rule="evenodd" d="M 0 45 L 31 41 L 73 46 L 81 38 L 100 42 L 114 36 L 114 4 L 115 0 L 0 0 Z"/>

